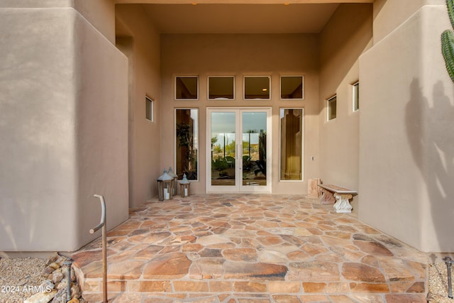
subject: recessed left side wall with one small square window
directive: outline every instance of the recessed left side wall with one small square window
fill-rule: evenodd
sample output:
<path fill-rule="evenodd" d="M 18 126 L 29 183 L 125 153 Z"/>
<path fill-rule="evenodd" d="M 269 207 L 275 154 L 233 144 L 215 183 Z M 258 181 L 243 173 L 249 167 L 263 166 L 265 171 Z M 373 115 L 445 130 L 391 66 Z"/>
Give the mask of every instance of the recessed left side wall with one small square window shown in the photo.
<path fill-rule="evenodd" d="M 160 35 L 141 5 L 116 6 L 117 47 L 129 60 L 129 203 L 157 195 L 160 165 Z M 145 119 L 145 96 L 154 100 L 154 122 Z M 168 168 L 168 167 L 167 167 Z"/>

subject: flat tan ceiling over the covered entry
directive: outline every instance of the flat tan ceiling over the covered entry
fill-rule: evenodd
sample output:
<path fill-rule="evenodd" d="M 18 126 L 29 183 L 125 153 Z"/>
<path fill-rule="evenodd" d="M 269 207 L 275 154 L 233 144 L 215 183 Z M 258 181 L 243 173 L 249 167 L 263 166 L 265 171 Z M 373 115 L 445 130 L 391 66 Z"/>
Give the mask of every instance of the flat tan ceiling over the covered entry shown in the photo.
<path fill-rule="evenodd" d="M 341 3 L 373 0 L 116 0 L 141 4 L 160 33 L 320 33 Z M 121 25 L 117 24 L 117 34 Z"/>

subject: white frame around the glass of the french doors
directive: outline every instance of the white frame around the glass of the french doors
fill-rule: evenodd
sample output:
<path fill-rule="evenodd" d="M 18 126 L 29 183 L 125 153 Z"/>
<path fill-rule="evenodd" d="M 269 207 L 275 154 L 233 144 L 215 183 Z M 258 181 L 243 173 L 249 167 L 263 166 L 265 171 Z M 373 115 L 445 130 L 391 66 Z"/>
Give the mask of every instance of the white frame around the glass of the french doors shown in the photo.
<path fill-rule="evenodd" d="M 236 113 L 236 161 L 235 161 L 235 186 L 211 185 L 211 113 L 212 112 Z M 267 184 L 265 186 L 243 185 L 243 112 L 262 111 L 267 114 Z M 240 140 L 238 141 L 238 137 Z M 238 143 L 241 142 L 241 143 Z M 238 153 L 240 151 L 240 153 Z M 241 157 L 238 155 L 241 154 Z M 206 192 L 207 193 L 271 193 L 272 192 L 272 108 L 271 107 L 207 107 L 206 108 Z"/>

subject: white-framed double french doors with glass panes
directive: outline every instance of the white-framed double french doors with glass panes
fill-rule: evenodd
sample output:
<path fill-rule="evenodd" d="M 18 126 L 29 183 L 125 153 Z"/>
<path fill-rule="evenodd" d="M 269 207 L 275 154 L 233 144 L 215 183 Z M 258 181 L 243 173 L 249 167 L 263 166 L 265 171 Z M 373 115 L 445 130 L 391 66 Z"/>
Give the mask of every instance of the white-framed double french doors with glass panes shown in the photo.
<path fill-rule="evenodd" d="M 206 191 L 271 192 L 271 109 L 208 108 Z"/>

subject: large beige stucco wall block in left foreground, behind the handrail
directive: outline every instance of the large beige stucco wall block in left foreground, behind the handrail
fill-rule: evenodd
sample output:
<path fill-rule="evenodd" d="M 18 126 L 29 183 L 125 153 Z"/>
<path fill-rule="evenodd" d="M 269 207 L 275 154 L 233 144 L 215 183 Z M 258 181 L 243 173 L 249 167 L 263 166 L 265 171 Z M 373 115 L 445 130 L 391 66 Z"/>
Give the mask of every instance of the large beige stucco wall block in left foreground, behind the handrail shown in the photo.
<path fill-rule="evenodd" d="M 0 15 L 0 250 L 75 250 L 93 194 L 128 216 L 126 57 L 72 8 Z"/>

